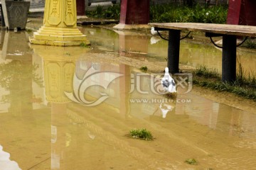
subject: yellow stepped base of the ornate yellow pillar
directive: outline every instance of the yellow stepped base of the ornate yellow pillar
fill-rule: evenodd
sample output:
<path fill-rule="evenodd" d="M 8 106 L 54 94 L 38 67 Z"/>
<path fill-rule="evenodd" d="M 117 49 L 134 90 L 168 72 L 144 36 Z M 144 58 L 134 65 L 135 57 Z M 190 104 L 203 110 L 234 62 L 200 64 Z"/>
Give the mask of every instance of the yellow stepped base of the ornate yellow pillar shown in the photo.
<path fill-rule="evenodd" d="M 33 33 L 33 38 L 29 38 L 31 44 L 55 45 L 55 46 L 74 46 L 85 43 L 90 45 L 86 35 L 82 35 L 78 28 L 60 28 L 42 26 L 37 32 Z"/>

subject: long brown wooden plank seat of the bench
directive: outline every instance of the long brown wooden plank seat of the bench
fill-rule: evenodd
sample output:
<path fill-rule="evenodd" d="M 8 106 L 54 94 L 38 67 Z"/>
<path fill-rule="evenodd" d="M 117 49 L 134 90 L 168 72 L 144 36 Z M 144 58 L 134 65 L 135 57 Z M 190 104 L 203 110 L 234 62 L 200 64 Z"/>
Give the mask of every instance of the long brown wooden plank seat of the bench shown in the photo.
<path fill-rule="evenodd" d="M 242 35 L 256 37 L 256 26 L 240 26 L 215 23 L 149 23 L 149 26 L 166 30 L 190 30 L 222 35 Z"/>

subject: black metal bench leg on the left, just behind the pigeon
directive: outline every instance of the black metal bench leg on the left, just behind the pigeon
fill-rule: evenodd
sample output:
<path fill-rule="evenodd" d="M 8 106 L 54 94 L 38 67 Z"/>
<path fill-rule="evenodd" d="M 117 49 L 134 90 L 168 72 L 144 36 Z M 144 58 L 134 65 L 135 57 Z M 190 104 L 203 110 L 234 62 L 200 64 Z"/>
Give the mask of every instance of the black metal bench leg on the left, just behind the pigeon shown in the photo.
<path fill-rule="evenodd" d="M 181 30 L 169 30 L 168 62 L 169 72 L 178 73 Z"/>

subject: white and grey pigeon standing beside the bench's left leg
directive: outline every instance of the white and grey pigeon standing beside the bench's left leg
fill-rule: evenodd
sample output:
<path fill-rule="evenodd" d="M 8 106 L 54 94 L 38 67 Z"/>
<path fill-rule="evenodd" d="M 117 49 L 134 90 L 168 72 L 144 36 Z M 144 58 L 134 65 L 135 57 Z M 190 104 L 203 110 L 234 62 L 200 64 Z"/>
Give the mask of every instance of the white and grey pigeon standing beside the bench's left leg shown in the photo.
<path fill-rule="evenodd" d="M 168 91 L 169 93 L 176 93 L 176 85 L 173 78 L 171 78 L 169 74 L 169 69 L 166 67 L 163 79 L 161 79 L 161 85 L 164 88 L 164 91 Z"/>

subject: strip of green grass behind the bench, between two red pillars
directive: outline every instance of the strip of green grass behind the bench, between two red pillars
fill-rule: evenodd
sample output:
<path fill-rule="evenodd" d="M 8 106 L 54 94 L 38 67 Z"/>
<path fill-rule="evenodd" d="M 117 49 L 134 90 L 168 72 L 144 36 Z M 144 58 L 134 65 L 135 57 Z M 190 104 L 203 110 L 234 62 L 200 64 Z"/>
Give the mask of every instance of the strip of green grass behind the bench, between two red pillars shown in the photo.
<path fill-rule="evenodd" d="M 150 22 L 152 23 L 226 23 L 228 6 L 178 6 L 163 4 L 150 6 Z"/>

